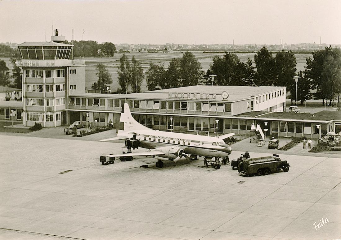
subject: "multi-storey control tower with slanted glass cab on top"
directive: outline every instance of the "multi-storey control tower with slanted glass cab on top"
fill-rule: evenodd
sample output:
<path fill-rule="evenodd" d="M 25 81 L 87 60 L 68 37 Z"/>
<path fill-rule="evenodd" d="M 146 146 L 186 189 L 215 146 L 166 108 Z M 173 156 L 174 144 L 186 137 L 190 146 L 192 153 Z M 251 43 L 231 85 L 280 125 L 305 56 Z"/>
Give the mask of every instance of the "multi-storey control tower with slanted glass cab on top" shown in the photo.
<path fill-rule="evenodd" d="M 50 42 L 18 45 L 21 60 L 15 64 L 22 71 L 24 126 L 66 124 L 70 94 L 85 92 L 84 59 L 70 59 L 73 45 L 64 41 L 65 36 L 58 36 L 56 29 Z"/>

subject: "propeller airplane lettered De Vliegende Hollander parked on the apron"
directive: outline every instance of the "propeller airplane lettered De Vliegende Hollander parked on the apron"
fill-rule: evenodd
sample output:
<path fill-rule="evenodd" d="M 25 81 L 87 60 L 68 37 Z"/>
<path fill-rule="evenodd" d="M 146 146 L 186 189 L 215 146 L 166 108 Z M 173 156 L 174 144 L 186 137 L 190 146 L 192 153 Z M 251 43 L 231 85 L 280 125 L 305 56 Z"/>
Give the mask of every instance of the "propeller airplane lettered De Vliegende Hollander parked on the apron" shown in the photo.
<path fill-rule="evenodd" d="M 122 154 L 109 154 L 108 157 L 128 156 L 153 156 L 158 159 L 156 167 L 162 168 L 163 161 L 182 159 L 196 160 L 197 156 L 203 156 L 206 162 L 219 162 L 232 152 L 232 148 L 224 142 L 224 139 L 235 135 L 224 134 L 218 137 L 202 136 L 185 133 L 165 132 L 152 130 L 138 123 L 131 115 L 128 103 L 122 106 L 120 127 L 117 137 L 102 139 L 100 141 L 126 140 L 128 150 L 131 147 L 150 149 L 148 152 L 134 152 Z M 128 144 L 127 144 L 128 142 Z M 103 164 L 103 162 L 102 162 Z M 220 165 L 214 168 L 219 169 Z M 212 165 L 213 166 L 213 165 Z"/>

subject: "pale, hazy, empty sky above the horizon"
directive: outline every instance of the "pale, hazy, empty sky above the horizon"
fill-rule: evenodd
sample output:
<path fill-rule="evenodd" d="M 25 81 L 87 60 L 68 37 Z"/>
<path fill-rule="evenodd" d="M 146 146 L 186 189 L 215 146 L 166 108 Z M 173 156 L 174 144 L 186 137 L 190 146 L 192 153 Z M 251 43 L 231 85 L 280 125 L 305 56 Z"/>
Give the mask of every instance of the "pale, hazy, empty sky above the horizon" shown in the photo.
<path fill-rule="evenodd" d="M 0 42 L 341 44 L 341 0 L 0 0 Z"/>

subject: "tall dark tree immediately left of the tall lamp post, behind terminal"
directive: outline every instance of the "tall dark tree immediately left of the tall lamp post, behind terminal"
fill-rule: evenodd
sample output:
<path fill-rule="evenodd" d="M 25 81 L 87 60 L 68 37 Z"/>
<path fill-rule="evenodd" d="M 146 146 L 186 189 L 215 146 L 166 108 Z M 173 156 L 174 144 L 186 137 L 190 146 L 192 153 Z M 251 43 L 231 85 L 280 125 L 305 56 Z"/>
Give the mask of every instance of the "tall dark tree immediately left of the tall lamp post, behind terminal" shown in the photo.
<path fill-rule="evenodd" d="M 281 52 L 276 54 L 275 57 L 276 62 L 276 75 L 277 81 L 275 83 L 276 86 L 290 86 L 292 85 L 293 76 L 295 76 L 296 72 L 296 57 L 295 55 L 289 51 Z"/>

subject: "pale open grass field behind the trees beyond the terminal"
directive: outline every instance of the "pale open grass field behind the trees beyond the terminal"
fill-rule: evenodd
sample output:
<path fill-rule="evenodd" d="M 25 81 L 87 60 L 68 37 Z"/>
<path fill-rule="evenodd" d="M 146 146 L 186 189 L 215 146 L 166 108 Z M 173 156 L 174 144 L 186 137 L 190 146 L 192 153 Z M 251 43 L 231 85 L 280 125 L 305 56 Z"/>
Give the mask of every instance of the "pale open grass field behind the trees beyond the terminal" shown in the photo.
<path fill-rule="evenodd" d="M 224 53 L 203 53 L 202 51 L 192 52 L 198 61 L 201 63 L 203 70 L 206 71 L 210 68 L 210 65 L 213 62 L 214 56 L 223 56 Z M 164 64 L 165 68 L 168 68 L 169 62 L 172 58 L 181 58 L 184 52 L 175 52 L 175 53 L 126 53 L 128 59 L 131 59 L 132 56 L 141 63 L 144 72 L 146 72 L 149 68 L 149 63 L 157 63 L 157 64 Z M 275 56 L 276 54 L 273 54 Z M 112 75 L 113 83 L 111 84 L 111 90 L 116 91 L 119 87 L 118 85 L 118 66 L 119 66 L 119 59 L 122 56 L 122 53 L 116 53 L 114 57 L 86 57 L 85 64 L 86 67 L 86 88 L 91 88 L 91 85 L 94 82 L 97 82 L 97 75 L 96 75 L 96 65 L 98 63 L 102 63 L 105 67 L 109 70 L 110 74 Z M 254 63 L 254 53 L 237 53 L 240 61 L 246 63 L 248 58 L 252 60 Z M 306 58 L 312 57 L 312 54 L 295 54 L 296 56 L 296 68 L 297 71 L 304 71 L 306 66 Z M 10 62 L 10 58 L 1 58 L 6 63 L 6 66 L 12 70 L 13 66 Z M 12 73 L 12 72 L 11 72 Z M 147 83 L 144 80 L 141 86 L 142 91 L 146 91 Z"/>

